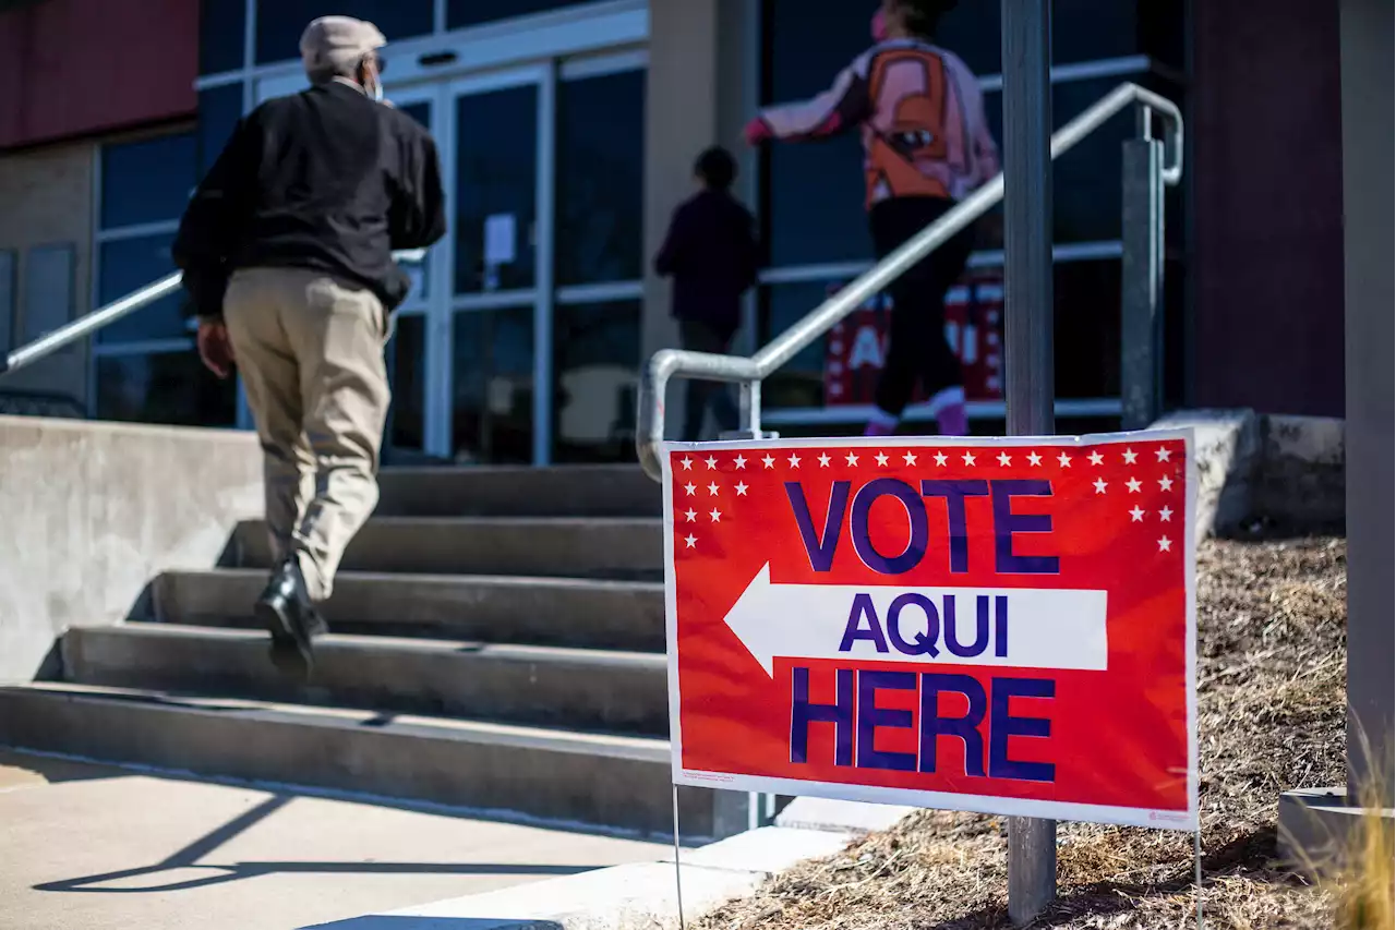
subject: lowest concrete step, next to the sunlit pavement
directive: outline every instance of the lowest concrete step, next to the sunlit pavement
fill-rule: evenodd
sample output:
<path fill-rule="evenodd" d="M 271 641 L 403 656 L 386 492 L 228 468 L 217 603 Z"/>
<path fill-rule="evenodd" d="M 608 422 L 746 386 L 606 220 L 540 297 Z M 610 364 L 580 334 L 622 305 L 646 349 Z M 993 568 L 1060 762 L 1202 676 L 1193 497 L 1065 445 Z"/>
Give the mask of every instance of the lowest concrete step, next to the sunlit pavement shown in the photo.
<path fill-rule="evenodd" d="M 660 739 L 32 684 L 0 687 L 0 746 L 644 835 L 673 822 Z M 685 834 L 716 835 L 711 792 L 678 803 Z"/>

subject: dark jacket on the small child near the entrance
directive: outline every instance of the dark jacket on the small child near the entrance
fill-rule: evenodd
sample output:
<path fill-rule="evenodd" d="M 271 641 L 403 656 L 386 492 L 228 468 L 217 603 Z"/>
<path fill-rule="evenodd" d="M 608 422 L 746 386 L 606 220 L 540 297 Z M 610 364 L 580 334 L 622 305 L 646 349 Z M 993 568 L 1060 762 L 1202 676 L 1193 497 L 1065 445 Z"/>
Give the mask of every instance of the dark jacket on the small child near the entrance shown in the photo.
<path fill-rule="evenodd" d="M 741 295 L 759 261 L 751 211 L 732 194 L 705 190 L 674 211 L 655 271 L 674 279 L 673 314 L 730 338 L 741 324 Z"/>

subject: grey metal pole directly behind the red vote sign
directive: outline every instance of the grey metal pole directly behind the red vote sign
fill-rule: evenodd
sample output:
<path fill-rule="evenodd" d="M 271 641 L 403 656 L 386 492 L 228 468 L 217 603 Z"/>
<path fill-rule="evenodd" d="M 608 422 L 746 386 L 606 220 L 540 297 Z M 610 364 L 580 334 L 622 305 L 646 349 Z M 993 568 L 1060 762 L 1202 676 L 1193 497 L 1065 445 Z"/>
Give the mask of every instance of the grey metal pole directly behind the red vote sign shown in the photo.
<path fill-rule="evenodd" d="M 1002 0 L 1004 285 L 1008 431 L 1053 422 L 1051 1 Z M 1008 916 L 1037 917 L 1057 895 L 1057 824 L 1008 820 Z"/>

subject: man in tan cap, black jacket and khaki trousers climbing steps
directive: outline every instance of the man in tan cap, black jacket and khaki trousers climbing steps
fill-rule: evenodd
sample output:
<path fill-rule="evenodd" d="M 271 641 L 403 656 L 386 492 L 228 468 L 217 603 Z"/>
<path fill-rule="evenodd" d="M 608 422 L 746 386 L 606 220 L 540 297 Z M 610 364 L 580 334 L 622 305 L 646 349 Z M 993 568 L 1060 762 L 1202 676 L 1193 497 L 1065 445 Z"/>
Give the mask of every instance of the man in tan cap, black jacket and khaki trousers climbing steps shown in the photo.
<path fill-rule="evenodd" d="M 265 452 L 276 568 L 254 607 L 278 665 L 306 669 L 349 540 L 378 503 L 392 251 L 445 233 L 436 145 L 384 105 L 370 22 L 324 17 L 300 52 L 311 88 L 239 123 L 174 242 L 219 377 L 243 376 Z"/>

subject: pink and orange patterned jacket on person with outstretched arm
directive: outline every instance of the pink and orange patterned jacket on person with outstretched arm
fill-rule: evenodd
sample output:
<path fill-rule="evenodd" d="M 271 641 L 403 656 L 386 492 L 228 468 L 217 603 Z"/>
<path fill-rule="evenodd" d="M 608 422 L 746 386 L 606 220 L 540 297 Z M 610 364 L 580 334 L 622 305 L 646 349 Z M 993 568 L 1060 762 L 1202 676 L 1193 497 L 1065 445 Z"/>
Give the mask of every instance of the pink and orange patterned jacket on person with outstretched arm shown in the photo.
<path fill-rule="evenodd" d="M 951 52 L 917 39 L 879 42 L 824 94 L 765 109 L 759 119 L 783 140 L 861 128 L 868 207 L 889 197 L 958 201 L 998 173 L 998 145 L 974 74 Z"/>

